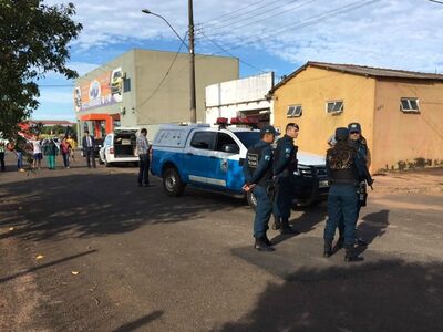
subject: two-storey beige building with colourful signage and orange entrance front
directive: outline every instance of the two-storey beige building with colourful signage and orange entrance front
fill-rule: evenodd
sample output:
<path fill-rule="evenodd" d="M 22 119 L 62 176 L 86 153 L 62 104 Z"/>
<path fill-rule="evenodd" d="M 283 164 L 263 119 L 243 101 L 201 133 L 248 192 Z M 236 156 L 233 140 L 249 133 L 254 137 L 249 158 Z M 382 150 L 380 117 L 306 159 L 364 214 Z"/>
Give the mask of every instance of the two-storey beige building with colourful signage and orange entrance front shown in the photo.
<path fill-rule="evenodd" d="M 238 59 L 195 55 L 197 122 L 205 118 L 205 86 L 238 79 Z M 79 134 L 102 137 L 115 126 L 148 128 L 188 122 L 187 53 L 132 50 L 75 81 L 74 108 Z"/>

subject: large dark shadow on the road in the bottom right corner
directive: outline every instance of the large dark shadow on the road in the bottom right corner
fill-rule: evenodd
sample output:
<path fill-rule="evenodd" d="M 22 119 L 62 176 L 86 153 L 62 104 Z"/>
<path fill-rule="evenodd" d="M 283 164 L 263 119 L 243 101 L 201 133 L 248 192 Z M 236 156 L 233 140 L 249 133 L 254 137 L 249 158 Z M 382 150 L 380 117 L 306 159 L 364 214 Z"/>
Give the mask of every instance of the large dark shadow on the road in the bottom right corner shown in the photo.
<path fill-rule="evenodd" d="M 384 259 L 301 268 L 217 331 L 443 331 L 443 266 Z"/>

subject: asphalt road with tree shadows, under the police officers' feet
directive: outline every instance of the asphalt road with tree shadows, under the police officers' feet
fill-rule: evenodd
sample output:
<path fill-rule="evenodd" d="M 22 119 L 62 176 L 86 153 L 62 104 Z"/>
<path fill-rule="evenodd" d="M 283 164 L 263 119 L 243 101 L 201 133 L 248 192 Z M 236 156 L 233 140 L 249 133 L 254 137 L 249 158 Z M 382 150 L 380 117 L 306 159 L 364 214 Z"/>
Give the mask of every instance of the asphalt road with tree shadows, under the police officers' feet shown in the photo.
<path fill-rule="evenodd" d="M 262 253 L 240 200 L 73 166 L 0 174 L 0 331 L 443 331 L 442 191 L 372 194 L 346 264 L 324 205 Z"/>

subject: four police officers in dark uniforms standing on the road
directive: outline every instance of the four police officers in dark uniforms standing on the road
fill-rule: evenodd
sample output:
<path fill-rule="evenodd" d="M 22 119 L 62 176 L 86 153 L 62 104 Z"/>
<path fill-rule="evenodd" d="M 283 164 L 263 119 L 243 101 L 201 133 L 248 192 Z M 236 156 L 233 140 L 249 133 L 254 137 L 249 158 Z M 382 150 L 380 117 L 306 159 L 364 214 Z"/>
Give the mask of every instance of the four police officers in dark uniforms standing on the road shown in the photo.
<path fill-rule="evenodd" d="M 260 141 L 251 146 L 246 155 L 244 165 L 245 191 L 253 191 L 257 199 L 254 220 L 255 248 L 260 251 L 274 251 L 267 237 L 271 215 L 274 229 L 281 234 L 297 234 L 289 225 L 293 199 L 295 170 L 297 170 L 297 149 L 295 138 L 298 137 L 299 126 L 289 123 L 285 135 L 272 143 L 278 135 L 272 126 L 260 129 Z M 330 257 L 344 247 L 346 261 L 357 261 L 354 245 L 356 225 L 360 207 L 365 204 L 365 188 L 372 186 L 373 179 L 369 173 L 369 151 L 361 135 L 361 126 L 351 123 L 348 127 L 336 129 L 333 137 L 328 141 L 326 167 L 330 190 L 328 196 L 328 220 L 324 228 L 323 256 Z M 332 247 L 336 230 L 339 239 Z M 360 240 L 360 245 L 364 245 Z"/>

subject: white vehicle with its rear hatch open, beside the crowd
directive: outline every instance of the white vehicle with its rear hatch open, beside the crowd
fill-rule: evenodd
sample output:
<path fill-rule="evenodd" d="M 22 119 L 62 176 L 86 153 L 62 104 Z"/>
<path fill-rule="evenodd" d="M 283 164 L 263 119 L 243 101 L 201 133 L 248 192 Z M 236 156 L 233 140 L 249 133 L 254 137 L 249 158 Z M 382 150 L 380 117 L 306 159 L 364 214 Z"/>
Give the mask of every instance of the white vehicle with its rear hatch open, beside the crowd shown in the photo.
<path fill-rule="evenodd" d="M 115 128 L 106 135 L 99 152 L 99 163 L 111 166 L 113 164 L 138 163 L 136 154 L 137 128 Z"/>

